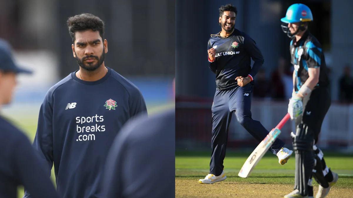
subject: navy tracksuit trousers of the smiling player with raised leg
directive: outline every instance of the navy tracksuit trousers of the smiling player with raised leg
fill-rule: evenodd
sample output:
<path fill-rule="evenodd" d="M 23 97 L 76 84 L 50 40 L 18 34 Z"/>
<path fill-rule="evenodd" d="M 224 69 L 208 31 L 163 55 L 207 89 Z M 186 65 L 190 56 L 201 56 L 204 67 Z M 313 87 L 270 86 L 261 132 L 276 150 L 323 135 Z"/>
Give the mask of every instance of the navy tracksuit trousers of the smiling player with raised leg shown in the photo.
<path fill-rule="evenodd" d="M 244 87 L 236 86 L 232 89 L 220 91 L 216 89 L 212 105 L 212 141 L 210 174 L 219 176 L 223 171 L 223 160 L 226 156 L 228 129 L 232 114 L 235 112 L 238 122 L 260 143 L 269 131 L 257 120 L 251 118 L 251 97 L 253 85 L 248 83 Z M 276 154 L 284 142 L 277 138 L 270 151 Z"/>

